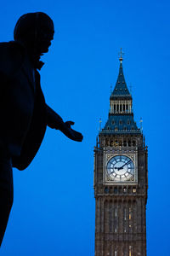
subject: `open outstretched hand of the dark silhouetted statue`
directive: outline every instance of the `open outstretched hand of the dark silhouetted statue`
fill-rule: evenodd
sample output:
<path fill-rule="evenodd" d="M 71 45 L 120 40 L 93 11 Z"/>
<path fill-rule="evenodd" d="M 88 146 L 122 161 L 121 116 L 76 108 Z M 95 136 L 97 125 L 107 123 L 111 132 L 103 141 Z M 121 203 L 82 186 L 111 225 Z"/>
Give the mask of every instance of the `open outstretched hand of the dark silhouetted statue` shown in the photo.
<path fill-rule="evenodd" d="M 69 137 L 71 140 L 76 141 L 76 142 L 82 142 L 82 133 L 75 131 L 71 128 L 71 125 L 74 125 L 74 122 L 72 121 L 67 121 L 65 123 L 63 123 L 62 125 L 62 129 L 60 129 L 60 131 L 62 131 L 66 137 Z"/>

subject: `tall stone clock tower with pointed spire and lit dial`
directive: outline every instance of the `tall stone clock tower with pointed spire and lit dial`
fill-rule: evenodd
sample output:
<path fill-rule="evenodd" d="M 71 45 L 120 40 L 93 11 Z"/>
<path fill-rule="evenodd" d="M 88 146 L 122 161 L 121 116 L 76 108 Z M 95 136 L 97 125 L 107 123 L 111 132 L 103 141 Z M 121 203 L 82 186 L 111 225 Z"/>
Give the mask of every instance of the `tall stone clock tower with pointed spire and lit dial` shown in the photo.
<path fill-rule="evenodd" d="M 147 147 L 120 57 L 110 112 L 94 148 L 95 256 L 146 256 Z"/>

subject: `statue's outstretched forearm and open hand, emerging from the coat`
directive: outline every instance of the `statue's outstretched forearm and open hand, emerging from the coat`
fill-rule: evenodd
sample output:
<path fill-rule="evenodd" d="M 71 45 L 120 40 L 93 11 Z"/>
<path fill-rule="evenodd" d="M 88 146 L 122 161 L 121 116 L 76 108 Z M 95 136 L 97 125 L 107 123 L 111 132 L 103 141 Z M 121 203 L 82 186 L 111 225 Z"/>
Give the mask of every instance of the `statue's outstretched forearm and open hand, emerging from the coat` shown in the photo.
<path fill-rule="evenodd" d="M 71 140 L 82 142 L 82 133 L 75 131 L 71 128 L 71 125 L 74 125 L 74 122 L 67 121 L 64 122 L 63 119 L 59 116 L 58 113 L 55 113 L 54 110 L 48 105 L 47 108 L 47 125 L 50 128 L 62 131 L 66 137 L 69 137 Z"/>

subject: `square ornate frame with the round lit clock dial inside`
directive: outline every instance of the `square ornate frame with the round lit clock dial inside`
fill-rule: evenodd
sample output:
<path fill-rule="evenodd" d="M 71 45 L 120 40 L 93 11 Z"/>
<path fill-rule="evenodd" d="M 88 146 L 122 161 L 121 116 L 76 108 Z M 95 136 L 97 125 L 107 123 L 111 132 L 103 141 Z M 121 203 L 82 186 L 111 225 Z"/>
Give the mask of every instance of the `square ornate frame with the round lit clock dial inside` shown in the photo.
<path fill-rule="evenodd" d="M 138 183 L 137 154 L 105 154 L 105 183 Z"/>

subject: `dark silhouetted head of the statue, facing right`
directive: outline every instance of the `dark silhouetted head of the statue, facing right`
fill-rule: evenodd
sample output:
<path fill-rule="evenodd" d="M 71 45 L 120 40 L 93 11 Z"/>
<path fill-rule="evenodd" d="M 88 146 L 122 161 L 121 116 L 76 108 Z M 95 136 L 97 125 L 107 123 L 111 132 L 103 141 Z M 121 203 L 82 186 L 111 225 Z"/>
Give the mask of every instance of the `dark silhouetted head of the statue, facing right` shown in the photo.
<path fill-rule="evenodd" d="M 32 55 L 48 52 L 53 38 L 53 20 L 42 12 L 22 15 L 14 27 L 14 40 L 24 44 Z"/>

